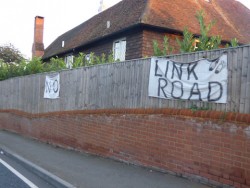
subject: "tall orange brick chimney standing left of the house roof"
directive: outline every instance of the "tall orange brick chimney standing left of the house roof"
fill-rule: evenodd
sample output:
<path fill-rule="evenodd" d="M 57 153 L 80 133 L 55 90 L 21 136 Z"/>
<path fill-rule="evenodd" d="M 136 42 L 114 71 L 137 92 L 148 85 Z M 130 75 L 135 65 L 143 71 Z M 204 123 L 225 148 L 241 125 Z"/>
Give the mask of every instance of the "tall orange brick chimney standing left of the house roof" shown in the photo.
<path fill-rule="evenodd" d="M 44 54 L 43 25 L 44 18 L 41 16 L 36 16 L 34 26 L 34 43 L 32 46 L 32 57 L 42 57 Z"/>

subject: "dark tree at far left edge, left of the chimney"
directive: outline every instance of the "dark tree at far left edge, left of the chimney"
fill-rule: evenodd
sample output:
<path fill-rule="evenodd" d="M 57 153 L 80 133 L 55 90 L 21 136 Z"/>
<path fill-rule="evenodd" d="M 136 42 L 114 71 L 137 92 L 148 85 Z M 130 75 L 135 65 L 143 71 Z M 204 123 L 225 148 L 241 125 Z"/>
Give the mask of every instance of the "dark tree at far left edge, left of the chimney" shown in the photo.
<path fill-rule="evenodd" d="M 12 44 L 0 46 L 0 59 L 5 63 L 20 63 L 25 58 Z"/>

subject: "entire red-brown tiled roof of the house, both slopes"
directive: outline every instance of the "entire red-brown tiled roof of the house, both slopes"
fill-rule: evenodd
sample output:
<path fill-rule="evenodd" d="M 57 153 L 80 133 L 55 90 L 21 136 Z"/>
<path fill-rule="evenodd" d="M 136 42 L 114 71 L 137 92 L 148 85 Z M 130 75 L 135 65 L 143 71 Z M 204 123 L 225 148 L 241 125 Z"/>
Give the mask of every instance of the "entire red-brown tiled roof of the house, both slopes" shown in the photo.
<path fill-rule="evenodd" d="M 204 10 L 206 20 L 216 20 L 211 35 L 223 40 L 237 38 L 250 43 L 250 10 L 235 0 L 123 0 L 59 36 L 46 50 L 44 59 L 67 52 L 137 24 L 199 34 L 195 17 Z M 107 28 L 110 21 L 110 28 Z M 62 41 L 65 46 L 62 48 Z"/>

